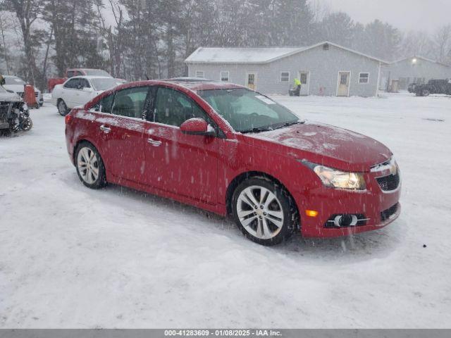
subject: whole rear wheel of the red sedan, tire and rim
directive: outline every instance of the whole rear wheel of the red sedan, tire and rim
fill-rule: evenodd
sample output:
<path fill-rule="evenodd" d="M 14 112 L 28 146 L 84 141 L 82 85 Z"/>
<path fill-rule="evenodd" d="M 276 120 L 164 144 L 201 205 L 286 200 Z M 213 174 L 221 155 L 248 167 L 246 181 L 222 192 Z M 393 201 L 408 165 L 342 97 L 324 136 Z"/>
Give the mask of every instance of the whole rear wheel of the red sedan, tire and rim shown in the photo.
<path fill-rule="evenodd" d="M 75 154 L 75 167 L 83 184 L 91 189 L 99 189 L 106 185 L 104 161 L 99 151 L 90 143 L 83 142 Z"/>

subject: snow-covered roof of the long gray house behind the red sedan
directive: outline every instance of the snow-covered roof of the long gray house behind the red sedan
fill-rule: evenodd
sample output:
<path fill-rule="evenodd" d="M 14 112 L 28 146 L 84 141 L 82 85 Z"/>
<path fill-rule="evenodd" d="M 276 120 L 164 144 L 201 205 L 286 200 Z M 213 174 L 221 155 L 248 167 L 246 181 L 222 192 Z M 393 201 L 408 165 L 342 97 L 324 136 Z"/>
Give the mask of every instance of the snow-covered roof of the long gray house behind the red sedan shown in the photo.
<path fill-rule="evenodd" d="M 302 51 L 314 49 L 323 44 L 330 44 L 345 51 L 371 58 L 374 61 L 387 63 L 381 59 L 374 58 L 359 51 L 334 44 L 333 42 L 319 42 L 304 47 L 257 47 L 257 48 L 211 48 L 199 47 L 185 59 L 185 63 L 270 63 L 280 58 L 286 58 Z"/>

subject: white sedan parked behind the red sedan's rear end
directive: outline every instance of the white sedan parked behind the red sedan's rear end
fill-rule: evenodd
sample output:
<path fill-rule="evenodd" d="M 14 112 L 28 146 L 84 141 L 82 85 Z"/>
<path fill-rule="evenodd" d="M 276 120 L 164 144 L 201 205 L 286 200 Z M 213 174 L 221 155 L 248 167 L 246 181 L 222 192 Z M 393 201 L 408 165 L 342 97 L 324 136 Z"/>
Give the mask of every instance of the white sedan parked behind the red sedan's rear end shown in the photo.
<path fill-rule="evenodd" d="M 51 103 L 58 107 L 58 113 L 65 116 L 76 106 L 85 106 L 107 89 L 122 84 L 123 80 L 106 76 L 75 76 L 63 84 L 56 84 L 51 92 Z"/>

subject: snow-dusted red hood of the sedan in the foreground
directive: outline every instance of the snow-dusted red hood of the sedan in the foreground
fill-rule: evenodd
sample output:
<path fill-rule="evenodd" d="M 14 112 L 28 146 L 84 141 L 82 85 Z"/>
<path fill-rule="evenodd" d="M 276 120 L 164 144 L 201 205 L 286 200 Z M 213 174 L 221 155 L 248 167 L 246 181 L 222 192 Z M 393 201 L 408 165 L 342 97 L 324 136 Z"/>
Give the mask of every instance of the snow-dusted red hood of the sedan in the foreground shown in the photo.
<path fill-rule="evenodd" d="M 320 123 L 307 122 L 242 137 L 253 146 L 340 170 L 369 171 L 393 155 L 371 137 Z"/>

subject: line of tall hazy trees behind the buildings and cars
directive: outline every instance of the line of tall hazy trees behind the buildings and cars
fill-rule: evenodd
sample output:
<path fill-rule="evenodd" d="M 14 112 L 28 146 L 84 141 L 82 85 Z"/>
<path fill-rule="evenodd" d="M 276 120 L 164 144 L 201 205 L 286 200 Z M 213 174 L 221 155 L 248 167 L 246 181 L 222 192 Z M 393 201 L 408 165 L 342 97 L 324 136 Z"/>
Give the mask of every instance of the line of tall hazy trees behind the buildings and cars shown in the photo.
<path fill-rule="evenodd" d="M 404 33 L 307 0 L 0 0 L 0 73 L 40 89 L 66 68 L 141 80 L 186 74 L 199 46 L 307 46 L 328 40 L 387 61 L 451 61 L 451 25 Z"/>

